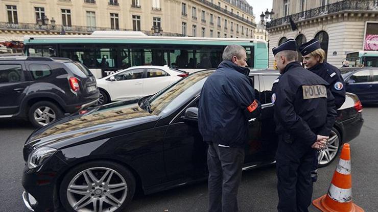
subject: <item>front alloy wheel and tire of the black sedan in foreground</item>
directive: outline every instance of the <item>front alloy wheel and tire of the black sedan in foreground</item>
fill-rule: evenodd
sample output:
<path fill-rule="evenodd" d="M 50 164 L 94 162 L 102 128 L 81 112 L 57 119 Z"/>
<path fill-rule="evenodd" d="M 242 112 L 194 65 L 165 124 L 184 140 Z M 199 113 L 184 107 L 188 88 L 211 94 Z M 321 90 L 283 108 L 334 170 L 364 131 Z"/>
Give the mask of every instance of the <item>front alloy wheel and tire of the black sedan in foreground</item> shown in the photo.
<path fill-rule="evenodd" d="M 102 205 L 102 211 L 118 212 L 132 200 L 135 186 L 133 174 L 122 165 L 93 161 L 73 168 L 64 176 L 59 197 L 67 211 L 99 211 Z"/>

